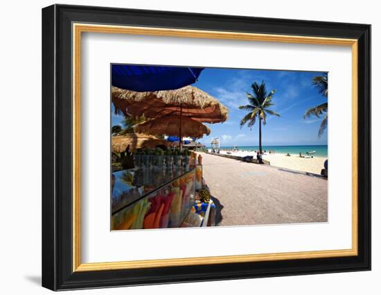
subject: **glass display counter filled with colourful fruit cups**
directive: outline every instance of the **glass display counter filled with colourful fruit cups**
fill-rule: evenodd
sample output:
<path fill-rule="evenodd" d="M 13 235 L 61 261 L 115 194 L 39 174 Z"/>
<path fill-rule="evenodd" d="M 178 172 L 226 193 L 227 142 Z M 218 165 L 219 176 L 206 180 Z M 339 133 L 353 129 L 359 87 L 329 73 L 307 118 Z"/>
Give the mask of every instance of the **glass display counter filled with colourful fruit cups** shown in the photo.
<path fill-rule="evenodd" d="M 201 165 L 113 172 L 111 229 L 179 228 L 201 185 Z"/>

